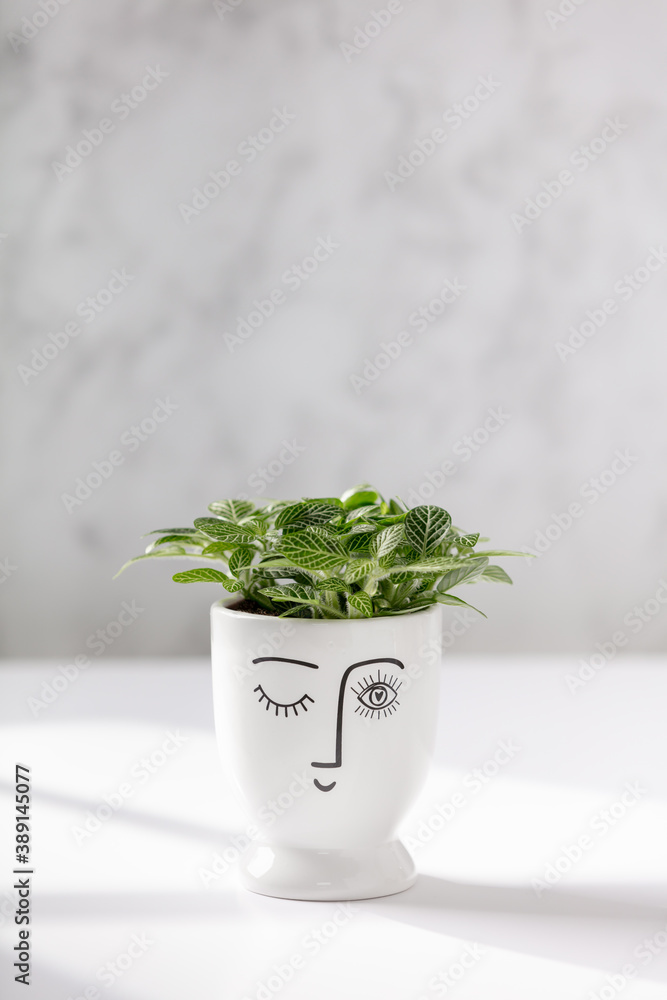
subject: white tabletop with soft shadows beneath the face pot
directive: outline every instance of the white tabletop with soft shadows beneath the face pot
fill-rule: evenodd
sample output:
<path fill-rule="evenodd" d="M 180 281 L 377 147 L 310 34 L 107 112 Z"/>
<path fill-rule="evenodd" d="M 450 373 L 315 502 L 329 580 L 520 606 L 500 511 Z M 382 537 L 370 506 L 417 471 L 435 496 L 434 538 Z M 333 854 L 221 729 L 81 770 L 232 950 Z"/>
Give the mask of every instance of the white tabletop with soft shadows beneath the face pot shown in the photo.
<path fill-rule="evenodd" d="M 576 658 L 448 659 L 434 767 L 402 835 L 428 832 L 457 791 L 463 805 L 414 852 L 412 889 L 349 909 L 246 892 L 233 864 L 205 884 L 246 822 L 217 756 L 208 663 L 101 659 L 35 718 L 28 699 L 58 667 L 0 667 L 3 998 L 667 998 L 667 663 L 619 659 L 572 693 Z M 169 733 L 183 742 L 142 776 Z M 501 740 L 520 749 L 475 790 L 466 775 Z M 15 761 L 33 780 L 29 991 L 7 961 Z M 627 783 L 634 798 L 614 805 Z M 121 785 L 131 795 L 77 838 Z M 609 809 L 624 812 L 613 826 Z M 532 880 L 582 835 L 592 846 L 538 896 Z M 144 950 L 100 979 L 133 935 Z M 295 957 L 284 983 L 276 967 Z"/>

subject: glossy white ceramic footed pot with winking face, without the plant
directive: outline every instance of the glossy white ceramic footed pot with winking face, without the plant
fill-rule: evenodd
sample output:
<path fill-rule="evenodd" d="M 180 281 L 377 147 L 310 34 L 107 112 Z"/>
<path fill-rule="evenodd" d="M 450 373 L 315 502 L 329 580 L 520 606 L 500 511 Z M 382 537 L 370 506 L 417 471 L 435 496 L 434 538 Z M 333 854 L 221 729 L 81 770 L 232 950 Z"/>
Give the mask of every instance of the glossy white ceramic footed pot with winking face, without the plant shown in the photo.
<path fill-rule="evenodd" d="M 213 605 L 218 745 L 257 830 L 248 889 L 364 899 L 414 883 L 396 828 L 432 756 L 440 611 L 331 621 Z"/>

